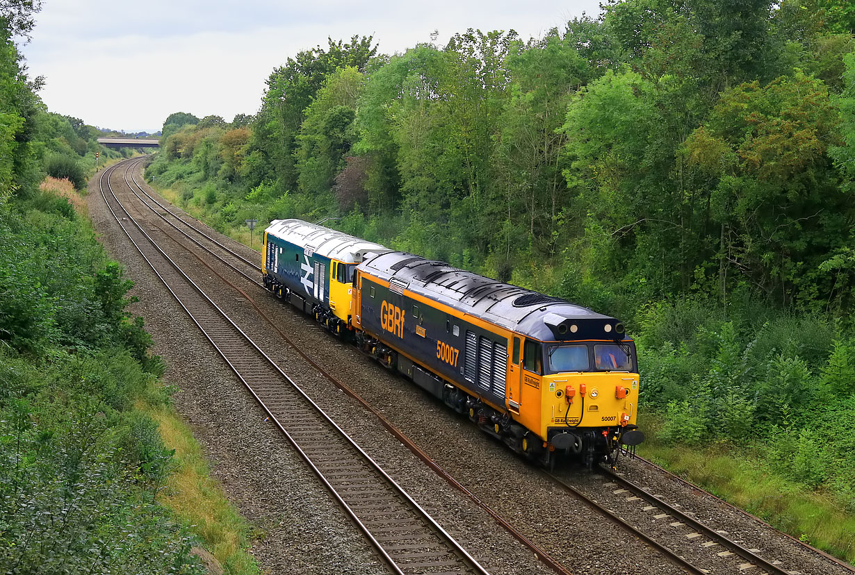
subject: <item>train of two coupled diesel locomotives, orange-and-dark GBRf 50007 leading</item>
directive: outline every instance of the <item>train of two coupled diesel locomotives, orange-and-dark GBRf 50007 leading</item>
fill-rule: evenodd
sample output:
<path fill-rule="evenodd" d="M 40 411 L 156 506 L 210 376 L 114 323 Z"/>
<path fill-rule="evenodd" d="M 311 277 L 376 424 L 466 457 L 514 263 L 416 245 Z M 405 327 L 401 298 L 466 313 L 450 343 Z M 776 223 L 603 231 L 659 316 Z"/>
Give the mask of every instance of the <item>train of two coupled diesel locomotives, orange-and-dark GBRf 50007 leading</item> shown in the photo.
<path fill-rule="evenodd" d="M 275 296 L 535 461 L 644 439 L 615 318 L 302 220 L 272 222 L 262 254 Z"/>

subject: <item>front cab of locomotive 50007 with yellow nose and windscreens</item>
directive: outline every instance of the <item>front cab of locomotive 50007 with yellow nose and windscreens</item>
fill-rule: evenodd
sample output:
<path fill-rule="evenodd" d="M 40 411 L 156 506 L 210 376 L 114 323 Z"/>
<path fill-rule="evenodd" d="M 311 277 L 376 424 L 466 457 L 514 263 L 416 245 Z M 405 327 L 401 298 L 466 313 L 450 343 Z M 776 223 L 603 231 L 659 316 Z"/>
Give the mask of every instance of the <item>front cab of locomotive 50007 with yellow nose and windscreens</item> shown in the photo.
<path fill-rule="evenodd" d="M 581 456 L 588 466 L 622 443 L 640 443 L 638 361 L 622 325 L 545 316 L 543 323 L 552 329 L 541 333 L 555 339 L 525 337 L 520 356 L 522 337 L 513 343 L 509 398 L 516 398 L 508 408 L 515 419 L 538 431 L 545 451 Z"/>

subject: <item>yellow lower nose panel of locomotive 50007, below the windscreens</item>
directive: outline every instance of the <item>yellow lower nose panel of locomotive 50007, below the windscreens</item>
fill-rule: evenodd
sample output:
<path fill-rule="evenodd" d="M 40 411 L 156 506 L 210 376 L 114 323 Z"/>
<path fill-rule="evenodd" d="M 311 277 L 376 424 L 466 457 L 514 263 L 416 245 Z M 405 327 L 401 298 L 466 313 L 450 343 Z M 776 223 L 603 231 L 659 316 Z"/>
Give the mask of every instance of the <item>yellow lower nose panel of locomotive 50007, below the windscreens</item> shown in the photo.
<path fill-rule="evenodd" d="M 635 425 L 638 373 L 555 373 L 541 381 L 540 437 L 550 427 Z"/>

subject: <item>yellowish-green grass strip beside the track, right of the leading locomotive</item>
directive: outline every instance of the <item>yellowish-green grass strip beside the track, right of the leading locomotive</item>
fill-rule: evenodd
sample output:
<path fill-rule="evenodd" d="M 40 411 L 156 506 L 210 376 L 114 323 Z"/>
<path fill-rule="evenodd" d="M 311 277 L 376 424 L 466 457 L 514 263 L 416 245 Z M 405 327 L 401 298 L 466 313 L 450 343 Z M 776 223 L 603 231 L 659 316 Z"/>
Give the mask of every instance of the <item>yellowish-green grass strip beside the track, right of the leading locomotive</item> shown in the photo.
<path fill-rule="evenodd" d="M 647 432 L 639 454 L 768 521 L 826 553 L 855 564 L 855 517 L 831 494 L 814 491 L 771 472 L 761 446 L 714 443 L 700 448 L 657 440 L 656 415 L 639 416 Z"/>

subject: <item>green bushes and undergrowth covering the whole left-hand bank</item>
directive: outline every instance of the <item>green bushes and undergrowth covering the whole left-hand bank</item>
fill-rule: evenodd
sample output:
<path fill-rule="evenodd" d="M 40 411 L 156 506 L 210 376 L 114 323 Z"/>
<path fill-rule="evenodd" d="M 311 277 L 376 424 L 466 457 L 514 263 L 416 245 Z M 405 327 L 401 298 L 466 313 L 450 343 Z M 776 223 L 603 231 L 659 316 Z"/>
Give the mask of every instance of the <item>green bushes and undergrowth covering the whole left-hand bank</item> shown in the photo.
<path fill-rule="evenodd" d="M 248 528 L 207 476 L 222 532 L 163 505 L 181 468 L 157 424 L 176 419 L 163 364 L 127 313 L 131 282 L 68 200 L 95 150 L 121 153 L 44 109 L 11 39 L 33 9 L 0 6 L 0 572 L 201 574 L 193 546 L 227 538 L 227 572 L 257 572 Z"/>

